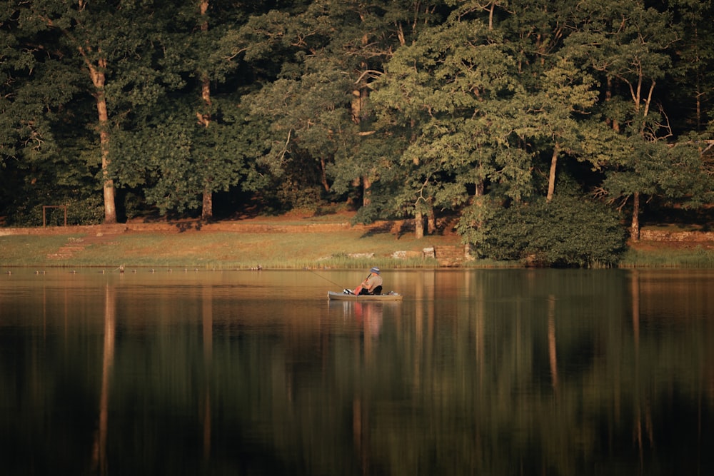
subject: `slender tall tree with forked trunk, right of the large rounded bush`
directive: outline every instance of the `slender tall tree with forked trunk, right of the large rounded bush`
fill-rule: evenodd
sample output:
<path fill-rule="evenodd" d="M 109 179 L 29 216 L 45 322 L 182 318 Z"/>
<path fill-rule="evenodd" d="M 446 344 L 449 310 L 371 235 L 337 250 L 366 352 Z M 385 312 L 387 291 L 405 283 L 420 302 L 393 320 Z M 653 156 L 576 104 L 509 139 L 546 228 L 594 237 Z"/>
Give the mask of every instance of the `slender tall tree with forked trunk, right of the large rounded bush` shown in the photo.
<path fill-rule="evenodd" d="M 578 49 L 590 71 L 610 88 L 606 92 L 611 99 L 605 104 L 608 122 L 635 141 L 634 153 L 618 159 L 620 164 L 630 161 L 629 170 L 634 174 L 629 181 L 633 188 L 626 196 L 632 198 L 630 238 L 638 240 L 641 195 L 651 182 L 649 175 L 638 175 L 637 171 L 647 168 L 648 158 L 660 156 L 645 153 L 650 148 L 645 143 L 671 135 L 666 116 L 653 108 L 658 106 L 655 87 L 670 67 L 679 29 L 668 11 L 647 8 L 638 0 L 606 4 L 588 0 L 579 7 L 579 29 L 570 35 L 568 44 Z"/>

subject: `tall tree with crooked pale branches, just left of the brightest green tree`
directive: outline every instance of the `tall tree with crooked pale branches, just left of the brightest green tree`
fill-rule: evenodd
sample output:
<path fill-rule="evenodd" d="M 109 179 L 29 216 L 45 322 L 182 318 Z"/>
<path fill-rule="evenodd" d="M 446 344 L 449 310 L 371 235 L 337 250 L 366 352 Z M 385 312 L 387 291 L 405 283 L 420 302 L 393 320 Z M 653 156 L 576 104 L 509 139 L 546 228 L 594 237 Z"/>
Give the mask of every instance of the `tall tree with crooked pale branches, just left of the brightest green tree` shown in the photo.
<path fill-rule="evenodd" d="M 363 203 L 376 176 L 368 96 L 383 63 L 438 16 L 436 1 L 313 2 L 271 11 L 243 29 L 246 61 L 282 58 L 273 84 L 256 93 L 253 111 L 273 119 L 273 165 L 305 158 L 326 190 L 361 181 Z M 338 26 L 338 27 L 336 27 Z M 291 153 L 294 151 L 295 153 Z M 299 153 L 298 153 L 299 152 Z M 328 169 L 337 186 L 328 183 Z"/>

